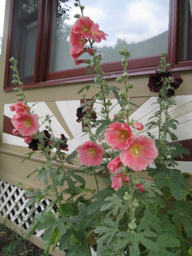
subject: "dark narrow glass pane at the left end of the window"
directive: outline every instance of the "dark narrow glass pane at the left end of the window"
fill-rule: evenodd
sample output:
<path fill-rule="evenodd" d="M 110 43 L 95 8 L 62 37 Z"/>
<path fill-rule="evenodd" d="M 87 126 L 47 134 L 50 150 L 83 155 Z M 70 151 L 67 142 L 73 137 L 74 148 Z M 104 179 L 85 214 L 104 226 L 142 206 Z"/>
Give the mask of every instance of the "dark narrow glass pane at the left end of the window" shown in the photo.
<path fill-rule="evenodd" d="M 11 55 L 18 60 L 21 79 L 31 82 L 35 64 L 38 0 L 16 0 L 13 24 Z"/>

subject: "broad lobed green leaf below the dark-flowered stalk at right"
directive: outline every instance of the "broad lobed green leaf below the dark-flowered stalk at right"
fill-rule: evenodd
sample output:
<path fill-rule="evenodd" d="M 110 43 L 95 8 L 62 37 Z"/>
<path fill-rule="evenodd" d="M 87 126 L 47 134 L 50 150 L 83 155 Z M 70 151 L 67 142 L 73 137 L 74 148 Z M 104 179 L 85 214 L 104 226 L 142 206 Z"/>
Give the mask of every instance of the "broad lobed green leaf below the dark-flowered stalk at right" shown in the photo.
<path fill-rule="evenodd" d="M 159 172 L 154 175 L 158 189 L 169 187 L 172 196 L 177 200 L 184 198 L 183 187 L 187 186 L 187 181 L 177 169 L 166 169 L 166 172 Z"/>

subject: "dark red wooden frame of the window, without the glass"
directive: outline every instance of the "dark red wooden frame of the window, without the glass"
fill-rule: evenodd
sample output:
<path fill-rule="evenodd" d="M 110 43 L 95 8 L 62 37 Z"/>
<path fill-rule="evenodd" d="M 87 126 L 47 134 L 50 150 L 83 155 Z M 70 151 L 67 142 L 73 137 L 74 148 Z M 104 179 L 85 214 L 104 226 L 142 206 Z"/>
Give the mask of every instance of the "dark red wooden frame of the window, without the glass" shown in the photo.
<path fill-rule="evenodd" d="M 167 62 L 171 64 L 170 71 L 192 70 L 191 61 L 179 61 L 180 38 L 180 4 L 181 0 L 169 2 L 169 39 Z M 38 30 L 35 49 L 35 67 L 33 82 L 25 83 L 24 87 L 44 87 L 54 84 L 67 84 L 79 81 L 90 81 L 93 75 L 87 76 L 86 67 L 78 67 L 69 70 L 49 72 L 49 60 L 51 49 L 52 23 L 54 0 L 39 0 Z M 6 52 L 6 68 L 4 90 L 12 90 L 15 86 L 9 84 L 9 58 L 12 45 L 12 24 L 15 14 L 15 0 L 11 0 L 9 16 L 9 32 Z M 47 54 L 48 53 L 48 54 Z M 160 55 L 133 58 L 128 62 L 130 76 L 154 73 L 159 65 Z M 122 72 L 120 61 L 102 64 L 106 76 L 116 77 L 116 73 Z"/>

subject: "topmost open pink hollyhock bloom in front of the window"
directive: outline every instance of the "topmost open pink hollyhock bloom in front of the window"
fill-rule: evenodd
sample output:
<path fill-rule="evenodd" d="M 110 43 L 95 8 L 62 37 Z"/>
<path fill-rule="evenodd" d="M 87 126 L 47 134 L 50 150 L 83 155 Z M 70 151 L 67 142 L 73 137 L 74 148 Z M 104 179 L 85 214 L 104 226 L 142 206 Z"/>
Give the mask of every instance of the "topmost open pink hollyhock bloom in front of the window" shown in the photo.
<path fill-rule="evenodd" d="M 73 26 L 74 33 L 82 34 L 87 37 L 93 29 L 94 22 L 90 17 L 80 17 Z"/>

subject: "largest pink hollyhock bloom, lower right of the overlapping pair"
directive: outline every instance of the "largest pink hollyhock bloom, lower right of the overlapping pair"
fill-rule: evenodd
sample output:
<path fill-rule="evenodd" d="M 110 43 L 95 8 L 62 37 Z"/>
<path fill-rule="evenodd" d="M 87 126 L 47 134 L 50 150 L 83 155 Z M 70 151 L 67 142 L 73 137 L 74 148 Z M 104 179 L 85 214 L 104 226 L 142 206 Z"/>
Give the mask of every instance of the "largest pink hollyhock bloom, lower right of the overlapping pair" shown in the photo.
<path fill-rule="evenodd" d="M 145 170 L 157 156 L 154 140 L 143 135 L 134 135 L 128 148 L 120 153 L 122 163 L 136 172 Z"/>

